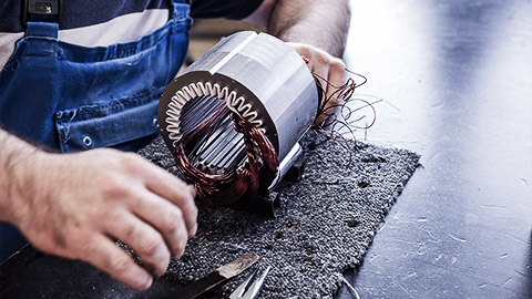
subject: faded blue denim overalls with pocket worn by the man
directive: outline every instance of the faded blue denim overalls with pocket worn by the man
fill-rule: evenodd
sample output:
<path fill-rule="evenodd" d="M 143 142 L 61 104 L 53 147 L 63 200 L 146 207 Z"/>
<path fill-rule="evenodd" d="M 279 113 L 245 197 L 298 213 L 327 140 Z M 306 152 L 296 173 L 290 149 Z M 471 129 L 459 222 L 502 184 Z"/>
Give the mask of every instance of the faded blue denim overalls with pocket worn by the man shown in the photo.
<path fill-rule="evenodd" d="M 188 47 L 187 1 L 172 2 L 163 28 L 106 48 L 59 41 L 55 22 L 28 22 L 0 73 L 1 127 L 63 153 L 147 144 L 158 134 L 158 97 Z M 0 262 L 24 243 L 0 223 Z"/>

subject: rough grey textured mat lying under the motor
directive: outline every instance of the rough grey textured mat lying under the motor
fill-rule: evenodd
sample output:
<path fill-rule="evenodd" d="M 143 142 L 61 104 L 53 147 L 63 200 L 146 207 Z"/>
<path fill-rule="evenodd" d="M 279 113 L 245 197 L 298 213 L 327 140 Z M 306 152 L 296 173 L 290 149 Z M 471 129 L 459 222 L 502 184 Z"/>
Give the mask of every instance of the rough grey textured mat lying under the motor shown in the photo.
<path fill-rule="evenodd" d="M 350 165 L 325 144 L 306 138 L 306 168 L 298 183 L 278 187 L 275 219 L 198 203 L 198 231 L 166 279 L 192 281 L 238 256 L 255 251 L 254 268 L 272 266 L 260 298 L 327 298 L 339 275 L 360 264 L 385 215 L 418 166 L 415 153 L 358 143 Z M 141 155 L 177 174 L 162 140 Z M 340 155 L 348 153 L 340 150 Z M 252 271 L 222 287 L 226 293 Z"/>

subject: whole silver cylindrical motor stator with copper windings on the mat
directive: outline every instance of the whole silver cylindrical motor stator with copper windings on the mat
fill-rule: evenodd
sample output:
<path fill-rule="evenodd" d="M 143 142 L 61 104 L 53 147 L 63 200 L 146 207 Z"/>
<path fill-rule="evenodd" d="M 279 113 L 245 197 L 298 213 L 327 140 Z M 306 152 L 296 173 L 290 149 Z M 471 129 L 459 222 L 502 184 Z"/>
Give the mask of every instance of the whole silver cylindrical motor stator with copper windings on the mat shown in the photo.
<path fill-rule="evenodd" d="M 238 32 L 168 84 L 158 118 L 200 197 L 231 205 L 280 179 L 279 161 L 294 159 L 317 111 L 315 80 L 300 56 L 272 35 Z"/>

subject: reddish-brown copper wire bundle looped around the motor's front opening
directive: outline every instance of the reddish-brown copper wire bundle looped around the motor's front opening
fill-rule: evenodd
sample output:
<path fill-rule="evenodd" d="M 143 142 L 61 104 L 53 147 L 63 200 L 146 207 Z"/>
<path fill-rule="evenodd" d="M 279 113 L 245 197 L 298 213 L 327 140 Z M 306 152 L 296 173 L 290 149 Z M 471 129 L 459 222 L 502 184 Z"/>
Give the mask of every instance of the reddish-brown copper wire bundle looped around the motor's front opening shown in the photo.
<path fill-rule="evenodd" d="M 204 136 L 213 134 L 229 114 L 235 130 L 244 134 L 247 161 L 243 168 L 238 168 L 239 161 L 234 159 L 222 174 L 204 173 L 190 162 L 187 154 L 203 141 Z M 175 147 L 175 158 L 185 178 L 194 183 L 198 197 L 216 206 L 227 206 L 241 198 L 254 197 L 257 193 L 264 192 L 268 187 L 267 184 L 274 181 L 279 164 L 277 153 L 266 135 L 245 118 L 232 113 L 225 104 L 219 105 L 183 135 Z"/>

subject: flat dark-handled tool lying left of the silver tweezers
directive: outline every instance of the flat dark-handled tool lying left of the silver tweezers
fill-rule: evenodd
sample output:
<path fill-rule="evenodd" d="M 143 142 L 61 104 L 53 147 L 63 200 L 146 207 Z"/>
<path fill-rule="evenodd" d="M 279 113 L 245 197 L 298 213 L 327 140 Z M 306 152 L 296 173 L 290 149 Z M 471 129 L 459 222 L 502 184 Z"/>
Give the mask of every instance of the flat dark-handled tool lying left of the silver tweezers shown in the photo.
<path fill-rule="evenodd" d="M 258 260 L 258 256 L 255 252 L 247 252 L 242 257 L 233 260 L 232 262 L 224 265 L 216 270 L 209 272 L 208 275 L 200 278 L 198 280 L 191 282 L 184 288 L 180 289 L 178 297 L 181 299 L 193 299 L 198 298 L 201 295 L 212 290 L 219 283 L 226 281 L 227 279 L 239 275 L 249 266 L 255 264 Z"/>

